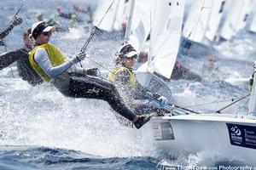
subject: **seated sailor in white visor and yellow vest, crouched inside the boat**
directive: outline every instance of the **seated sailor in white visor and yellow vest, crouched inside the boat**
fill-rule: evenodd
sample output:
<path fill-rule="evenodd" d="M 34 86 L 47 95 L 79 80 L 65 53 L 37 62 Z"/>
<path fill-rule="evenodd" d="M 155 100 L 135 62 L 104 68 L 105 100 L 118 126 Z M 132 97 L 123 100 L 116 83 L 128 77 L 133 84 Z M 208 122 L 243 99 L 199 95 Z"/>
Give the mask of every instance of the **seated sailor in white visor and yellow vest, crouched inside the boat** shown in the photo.
<path fill-rule="evenodd" d="M 132 71 L 137 59 L 136 49 L 131 44 L 125 44 L 116 55 L 116 67 L 109 72 L 108 80 L 114 82 L 122 96 L 125 96 L 125 103 L 137 114 L 166 112 L 166 107 L 161 105 L 166 106 L 168 100 L 164 96 L 151 92 L 136 80 Z M 152 100 L 154 102 L 151 102 Z"/>

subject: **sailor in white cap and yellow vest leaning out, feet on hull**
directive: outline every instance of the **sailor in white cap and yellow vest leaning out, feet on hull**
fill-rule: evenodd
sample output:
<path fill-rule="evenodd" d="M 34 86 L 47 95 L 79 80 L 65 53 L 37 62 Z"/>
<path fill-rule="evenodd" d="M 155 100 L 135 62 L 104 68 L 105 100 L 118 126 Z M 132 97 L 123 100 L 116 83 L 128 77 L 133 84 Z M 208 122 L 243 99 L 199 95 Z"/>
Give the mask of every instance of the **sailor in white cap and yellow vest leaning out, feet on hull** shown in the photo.
<path fill-rule="evenodd" d="M 45 82 L 53 83 L 61 94 L 68 97 L 105 100 L 114 111 L 129 119 L 137 128 L 149 121 L 150 116 L 137 116 L 126 107 L 111 82 L 103 81 L 98 77 L 88 75 L 77 77 L 76 74 L 71 74 L 71 67 L 83 60 L 86 54 L 79 53 L 73 59 L 67 60 L 59 48 L 49 43 L 53 31 L 55 31 L 54 26 L 48 26 L 42 21 L 32 25 L 31 36 L 38 47 L 32 49 L 29 61 Z M 81 72 L 83 71 L 79 74 Z"/>

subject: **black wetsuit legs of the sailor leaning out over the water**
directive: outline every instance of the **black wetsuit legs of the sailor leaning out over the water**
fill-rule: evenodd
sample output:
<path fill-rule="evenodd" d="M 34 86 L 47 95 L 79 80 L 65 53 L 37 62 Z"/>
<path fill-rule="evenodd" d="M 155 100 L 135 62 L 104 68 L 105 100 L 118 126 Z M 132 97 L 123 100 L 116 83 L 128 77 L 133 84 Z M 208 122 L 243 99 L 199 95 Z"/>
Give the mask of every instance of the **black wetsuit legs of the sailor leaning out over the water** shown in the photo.
<path fill-rule="evenodd" d="M 68 81 L 68 82 L 67 82 Z M 119 95 L 113 83 L 102 80 L 98 77 L 70 76 L 70 73 L 62 73 L 61 76 L 53 79 L 55 88 L 58 88 L 61 94 L 73 98 L 102 99 L 107 101 L 114 111 L 119 112 L 121 116 L 133 121 L 135 114 L 125 106 L 124 101 Z M 65 87 L 67 84 L 67 87 Z"/>

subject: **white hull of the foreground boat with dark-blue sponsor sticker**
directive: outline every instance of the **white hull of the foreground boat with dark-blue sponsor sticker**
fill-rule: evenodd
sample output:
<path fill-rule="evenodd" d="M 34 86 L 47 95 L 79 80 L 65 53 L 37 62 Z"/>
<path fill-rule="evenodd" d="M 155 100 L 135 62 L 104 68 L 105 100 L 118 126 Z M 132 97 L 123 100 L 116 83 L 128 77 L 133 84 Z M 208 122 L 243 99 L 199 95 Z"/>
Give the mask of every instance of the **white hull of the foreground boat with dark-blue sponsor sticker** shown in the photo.
<path fill-rule="evenodd" d="M 207 151 L 256 164 L 256 120 L 208 114 L 155 116 L 143 131 L 143 139 L 151 148 L 172 156 Z"/>

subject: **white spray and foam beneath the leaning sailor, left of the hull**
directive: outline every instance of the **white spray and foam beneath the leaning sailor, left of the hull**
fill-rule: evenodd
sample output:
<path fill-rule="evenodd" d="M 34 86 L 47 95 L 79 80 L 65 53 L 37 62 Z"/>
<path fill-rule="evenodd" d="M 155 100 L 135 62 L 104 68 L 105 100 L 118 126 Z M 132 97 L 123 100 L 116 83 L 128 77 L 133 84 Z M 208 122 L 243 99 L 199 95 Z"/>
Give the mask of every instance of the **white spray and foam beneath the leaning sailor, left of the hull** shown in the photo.
<path fill-rule="evenodd" d="M 9 83 L 24 85 L 19 79 Z M 106 102 L 65 98 L 47 85 L 3 93 L 11 95 L 1 98 L 0 144 L 61 147 L 106 157 L 142 155 L 140 133 L 122 127 Z"/>

